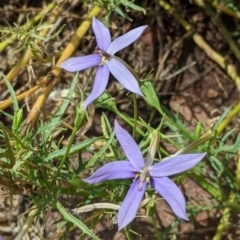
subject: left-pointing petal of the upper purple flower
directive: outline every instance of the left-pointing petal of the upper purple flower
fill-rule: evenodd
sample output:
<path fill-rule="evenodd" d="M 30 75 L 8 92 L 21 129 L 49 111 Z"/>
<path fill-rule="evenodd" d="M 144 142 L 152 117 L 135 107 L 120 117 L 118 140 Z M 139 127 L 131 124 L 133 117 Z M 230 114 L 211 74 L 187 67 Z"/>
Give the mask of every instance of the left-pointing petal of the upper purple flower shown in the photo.
<path fill-rule="evenodd" d="M 99 65 L 101 59 L 102 58 L 99 54 L 90 54 L 83 57 L 73 57 L 64 61 L 59 67 L 69 72 L 77 72 L 89 67 Z"/>

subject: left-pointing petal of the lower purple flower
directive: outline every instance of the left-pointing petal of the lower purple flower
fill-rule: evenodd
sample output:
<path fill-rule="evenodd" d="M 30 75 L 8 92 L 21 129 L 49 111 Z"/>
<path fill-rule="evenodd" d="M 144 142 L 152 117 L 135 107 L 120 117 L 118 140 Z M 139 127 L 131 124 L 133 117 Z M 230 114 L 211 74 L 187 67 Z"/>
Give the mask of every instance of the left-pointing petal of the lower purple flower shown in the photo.
<path fill-rule="evenodd" d="M 87 183 L 99 183 L 113 179 L 134 178 L 136 173 L 128 161 L 111 162 L 99 168 L 91 177 L 83 179 Z"/>

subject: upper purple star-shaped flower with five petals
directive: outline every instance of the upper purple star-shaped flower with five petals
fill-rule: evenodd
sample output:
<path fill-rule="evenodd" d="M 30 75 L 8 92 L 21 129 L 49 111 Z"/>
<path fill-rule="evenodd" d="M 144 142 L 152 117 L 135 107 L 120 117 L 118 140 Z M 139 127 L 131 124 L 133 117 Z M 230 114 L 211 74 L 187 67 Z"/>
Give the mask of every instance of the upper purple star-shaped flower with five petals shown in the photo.
<path fill-rule="evenodd" d="M 93 31 L 97 40 L 97 53 L 83 57 L 69 58 L 60 67 L 77 72 L 83 69 L 98 66 L 91 94 L 84 103 L 86 108 L 98 98 L 105 90 L 110 72 L 129 91 L 143 96 L 138 81 L 129 66 L 120 58 L 114 56 L 116 52 L 136 41 L 147 26 L 135 28 L 111 42 L 109 30 L 96 18 L 92 20 Z"/>

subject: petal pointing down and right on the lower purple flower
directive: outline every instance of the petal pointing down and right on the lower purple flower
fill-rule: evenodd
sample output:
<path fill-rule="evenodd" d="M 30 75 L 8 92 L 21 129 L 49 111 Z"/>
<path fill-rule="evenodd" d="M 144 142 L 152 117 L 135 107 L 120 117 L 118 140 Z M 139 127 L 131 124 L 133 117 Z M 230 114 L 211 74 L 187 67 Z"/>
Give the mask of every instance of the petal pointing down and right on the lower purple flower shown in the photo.
<path fill-rule="evenodd" d="M 172 180 L 168 177 L 151 178 L 151 185 L 166 200 L 176 216 L 188 220 L 184 196 Z"/>

